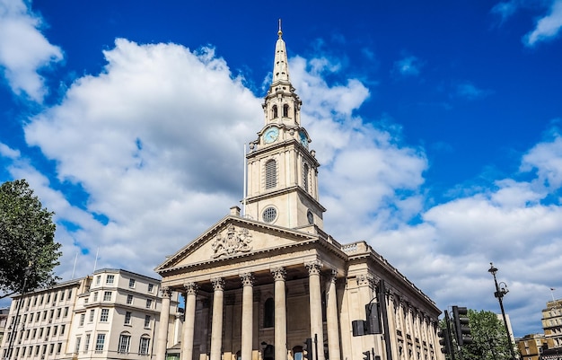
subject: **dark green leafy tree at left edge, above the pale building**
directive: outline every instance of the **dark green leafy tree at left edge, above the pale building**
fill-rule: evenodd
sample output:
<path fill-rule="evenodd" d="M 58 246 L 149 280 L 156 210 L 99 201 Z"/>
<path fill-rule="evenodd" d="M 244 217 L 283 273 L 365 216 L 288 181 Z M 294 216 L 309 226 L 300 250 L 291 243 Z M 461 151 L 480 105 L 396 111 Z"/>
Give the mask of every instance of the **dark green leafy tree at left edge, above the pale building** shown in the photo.
<path fill-rule="evenodd" d="M 61 255 L 53 215 L 26 180 L 0 186 L 0 299 L 59 280 L 53 272 Z"/>

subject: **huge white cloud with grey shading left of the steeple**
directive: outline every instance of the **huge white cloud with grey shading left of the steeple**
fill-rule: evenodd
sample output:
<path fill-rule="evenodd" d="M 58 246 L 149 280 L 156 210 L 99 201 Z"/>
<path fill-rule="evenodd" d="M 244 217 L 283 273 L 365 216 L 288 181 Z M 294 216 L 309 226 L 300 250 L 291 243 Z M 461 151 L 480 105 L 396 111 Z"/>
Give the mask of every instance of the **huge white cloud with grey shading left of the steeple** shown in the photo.
<path fill-rule="evenodd" d="M 86 192 L 88 213 L 109 219 L 66 217 L 89 263 L 99 247 L 98 268 L 150 274 L 240 200 L 243 144 L 262 122 L 260 101 L 212 48 L 116 40 L 104 54 L 103 72 L 78 79 L 25 136 L 57 162 L 60 181 Z M 162 246 L 141 250 L 154 244 Z"/>

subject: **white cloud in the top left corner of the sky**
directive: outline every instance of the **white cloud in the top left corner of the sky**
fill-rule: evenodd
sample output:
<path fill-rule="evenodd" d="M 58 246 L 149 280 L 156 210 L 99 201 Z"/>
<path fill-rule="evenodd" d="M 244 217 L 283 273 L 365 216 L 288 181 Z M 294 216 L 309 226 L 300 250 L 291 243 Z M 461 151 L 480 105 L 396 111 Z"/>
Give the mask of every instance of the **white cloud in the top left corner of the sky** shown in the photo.
<path fill-rule="evenodd" d="M 63 58 L 40 32 L 41 19 L 22 0 L 0 0 L 0 68 L 18 95 L 42 101 L 48 92 L 38 70 Z"/>

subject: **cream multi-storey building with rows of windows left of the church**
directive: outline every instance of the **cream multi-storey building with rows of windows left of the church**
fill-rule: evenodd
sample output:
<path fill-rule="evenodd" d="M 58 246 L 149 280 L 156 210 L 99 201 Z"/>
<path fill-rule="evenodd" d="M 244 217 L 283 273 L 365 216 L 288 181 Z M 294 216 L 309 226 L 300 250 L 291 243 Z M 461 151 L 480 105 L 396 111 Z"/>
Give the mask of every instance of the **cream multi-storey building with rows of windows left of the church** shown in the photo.
<path fill-rule="evenodd" d="M 154 354 L 160 280 L 122 269 L 17 295 L 2 343 L 3 359 L 145 359 Z M 169 332 L 180 329 L 178 303 Z M 170 339 L 170 346 L 178 335 Z"/>

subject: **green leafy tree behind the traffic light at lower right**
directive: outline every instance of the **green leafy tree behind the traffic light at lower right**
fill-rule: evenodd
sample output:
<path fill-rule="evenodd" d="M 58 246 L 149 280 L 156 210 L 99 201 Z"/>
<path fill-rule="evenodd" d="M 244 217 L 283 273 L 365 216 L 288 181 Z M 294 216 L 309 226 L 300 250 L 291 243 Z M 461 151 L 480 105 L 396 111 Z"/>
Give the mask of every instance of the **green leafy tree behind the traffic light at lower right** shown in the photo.
<path fill-rule="evenodd" d="M 468 316 L 473 342 L 461 347 L 462 360 L 511 360 L 511 341 L 507 338 L 503 321 L 498 319 L 496 313 L 469 309 Z M 444 321 L 440 326 L 444 328 Z M 455 338 L 454 329 L 452 338 Z M 447 358 L 451 359 L 451 356 Z M 455 359 L 459 359 L 456 352 Z"/>

